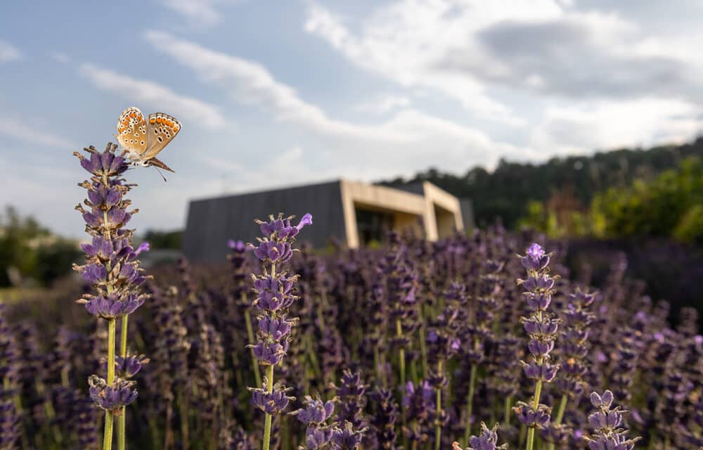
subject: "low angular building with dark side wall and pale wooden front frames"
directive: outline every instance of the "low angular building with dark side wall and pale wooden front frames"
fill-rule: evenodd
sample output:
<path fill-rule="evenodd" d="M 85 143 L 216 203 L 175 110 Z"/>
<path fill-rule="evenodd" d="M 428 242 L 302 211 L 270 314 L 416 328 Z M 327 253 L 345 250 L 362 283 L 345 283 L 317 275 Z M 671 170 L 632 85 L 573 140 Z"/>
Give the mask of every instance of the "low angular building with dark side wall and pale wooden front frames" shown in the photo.
<path fill-rule="evenodd" d="M 382 240 L 389 229 L 411 229 L 430 240 L 463 230 L 458 199 L 428 182 L 408 190 L 336 180 L 255 193 L 192 200 L 183 233 L 183 253 L 197 261 L 224 261 L 227 240 L 254 242 L 254 219 L 283 212 L 302 217 L 309 212 L 313 226 L 300 240 L 318 248 L 335 238 L 356 248 Z"/>

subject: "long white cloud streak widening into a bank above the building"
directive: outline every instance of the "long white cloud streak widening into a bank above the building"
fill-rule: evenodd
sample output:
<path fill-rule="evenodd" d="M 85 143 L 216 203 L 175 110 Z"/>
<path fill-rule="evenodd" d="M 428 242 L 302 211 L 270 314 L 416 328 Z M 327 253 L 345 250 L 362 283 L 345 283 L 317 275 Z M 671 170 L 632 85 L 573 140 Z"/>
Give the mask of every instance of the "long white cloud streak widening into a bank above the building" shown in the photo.
<path fill-rule="evenodd" d="M 389 120 L 372 125 L 335 120 L 302 100 L 295 89 L 275 79 L 258 63 L 164 32 L 148 32 L 147 39 L 195 71 L 203 82 L 228 92 L 234 101 L 257 105 L 278 120 L 314 131 L 316 148 L 311 148 L 307 158 L 316 170 L 332 167 L 337 175 L 365 179 L 385 177 L 389 172 L 411 174 L 429 165 L 456 172 L 472 164 L 492 165 L 501 152 L 529 151 L 495 142 L 482 131 L 419 110 L 400 110 Z M 316 149 L 328 150 L 317 158 Z M 272 161 L 276 158 L 271 155 Z"/>

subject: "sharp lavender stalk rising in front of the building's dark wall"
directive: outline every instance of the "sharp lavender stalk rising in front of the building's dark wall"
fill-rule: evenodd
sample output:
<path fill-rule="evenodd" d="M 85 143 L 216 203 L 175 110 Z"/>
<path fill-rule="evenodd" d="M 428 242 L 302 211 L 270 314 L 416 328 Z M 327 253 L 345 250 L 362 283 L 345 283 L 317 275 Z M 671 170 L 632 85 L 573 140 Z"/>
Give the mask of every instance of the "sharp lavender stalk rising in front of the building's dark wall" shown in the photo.
<path fill-rule="evenodd" d="M 258 319 L 257 343 L 252 345 L 259 364 L 266 367 L 262 387 L 250 388 L 254 406 L 264 411 L 264 450 L 271 445 L 271 419 L 283 411 L 293 399 L 288 389 L 273 383 L 273 368 L 288 352 L 290 332 L 297 319 L 288 317 L 288 308 L 298 299 L 295 295 L 297 275 L 288 275 L 282 270 L 295 251 L 292 244 L 295 236 L 306 225 L 312 224 L 311 214 L 305 214 L 299 224 L 292 226 L 293 217 L 269 216 L 269 221 L 257 220 L 264 235 L 258 245 L 251 245 L 254 255 L 262 261 L 263 274 L 252 275 L 256 299 L 252 302 Z M 278 269 L 278 270 L 277 270 Z"/>

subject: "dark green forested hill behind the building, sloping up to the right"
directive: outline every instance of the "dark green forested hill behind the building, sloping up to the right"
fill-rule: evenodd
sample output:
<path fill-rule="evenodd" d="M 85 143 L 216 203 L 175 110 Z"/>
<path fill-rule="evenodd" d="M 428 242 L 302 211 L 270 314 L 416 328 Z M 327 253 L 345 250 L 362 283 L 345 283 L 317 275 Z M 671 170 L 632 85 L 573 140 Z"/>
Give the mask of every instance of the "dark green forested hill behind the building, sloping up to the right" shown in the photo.
<path fill-rule="evenodd" d="M 567 193 L 571 201 L 588 207 L 598 191 L 627 186 L 636 178 L 650 178 L 676 167 L 691 155 L 703 157 L 703 137 L 680 146 L 612 150 L 589 156 L 552 158 L 541 164 L 501 160 L 494 172 L 474 167 L 463 176 L 429 169 L 412 179 L 394 179 L 381 184 L 399 186 L 430 181 L 459 198 L 471 198 L 479 226 L 501 217 L 503 224 L 512 228 L 527 213 L 529 200 L 548 201 L 555 194 Z"/>

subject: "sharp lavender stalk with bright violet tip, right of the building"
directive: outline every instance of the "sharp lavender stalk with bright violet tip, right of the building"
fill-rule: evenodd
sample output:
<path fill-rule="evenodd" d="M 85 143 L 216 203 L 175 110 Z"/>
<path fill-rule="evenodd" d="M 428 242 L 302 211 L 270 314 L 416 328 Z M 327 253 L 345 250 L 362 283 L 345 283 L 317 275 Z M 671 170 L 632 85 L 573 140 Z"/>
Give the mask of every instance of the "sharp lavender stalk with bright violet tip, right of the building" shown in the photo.
<path fill-rule="evenodd" d="M 534 396 L 529 404 L 518 401 L 513 409 L 520 422 L 529 427 L 527 450 L 532 450 L 534 446 L 536 428 L 543 428 L 550 422 L 551 409 L 539 401 L 543 385 L 553 381 L 559 370 L 557 364 L 550 363 L 559 319 L 554 319 L 548 312 L 555 283 L 555 277 L 549 274 L 549 258 L 550 255 L 540 245 L 530 245 L 525 255 L 520 257 L 522 266 L 527 270 L 527 279 L 517 281 L 524 288 L 522 295 L 531 311 L 529 316 L 522 318 L 522 326 L 529 335 L 527 349 L 530 357 L 529 362 L 521 362 L 527 378 L 535 382 Z"/>

